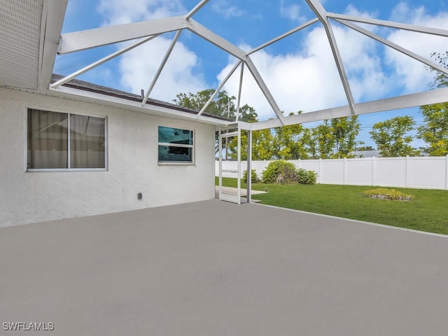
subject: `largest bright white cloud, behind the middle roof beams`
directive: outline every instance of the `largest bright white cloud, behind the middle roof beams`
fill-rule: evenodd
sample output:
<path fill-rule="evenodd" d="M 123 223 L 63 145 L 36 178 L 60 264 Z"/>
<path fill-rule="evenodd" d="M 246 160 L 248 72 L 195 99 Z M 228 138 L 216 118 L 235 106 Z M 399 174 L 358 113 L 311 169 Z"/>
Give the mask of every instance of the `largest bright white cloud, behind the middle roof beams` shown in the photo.
<path fill-rule="evenodd" d="M 380 71 L 380 60 L 375 55 L 374 43 L 349 29 L 334 29 L 356 102 L 384 94 L 388 90 L 387 78 Z M 323 28 L 315 28 L 308 34 L 302 52 L 272 55 L 260 50 L 251 58 L 285 113 L 316 111 L 347 104 Z M 231 67 L 232 64 L 229 64 L 223 69 L 218 79 L 223 80 Z M 260 120 L 274 117 L 251 74 L 246 71 L 244 76 L 243 102 L 255 108 Z M 231 94 L 236 95 L 238 92 L 238 77 L 232 76 L 225 86 Z"/>

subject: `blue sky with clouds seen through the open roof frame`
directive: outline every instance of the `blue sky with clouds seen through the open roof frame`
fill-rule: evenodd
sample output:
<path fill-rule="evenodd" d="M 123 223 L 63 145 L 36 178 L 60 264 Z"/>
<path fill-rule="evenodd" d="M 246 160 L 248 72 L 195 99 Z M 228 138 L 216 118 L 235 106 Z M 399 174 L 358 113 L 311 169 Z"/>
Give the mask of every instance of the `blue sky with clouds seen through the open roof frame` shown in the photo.
<path fill-rule="evenodd" d="M 197 0 L 69 0 L 63 32 L 107 25 L 137 22 L 182 15 Z M 448 29 L 447 0 L 409 1 L 321 1 L 328 12 L 367 16 L 426 27 Z M 223 36 L 239 48 L 250 50 L 314 18 L 305 1 L 210 0 L 193 17 L 197 22 Z M 332 22 L 335 36 L 349 76 L 355 102 L 393 97 L 428 90 L 433 79 L 423 64 L 373 41 L 356 31 Z M 432 38 L 396 29 L 366 26 L 375 34 L 402 45 L 423 57 L 448 50 L 447 38 Z M 174 34 L 159 38 L 127 52 L 80 79 L 128 92 L 148 90 Z M 57 57 L 55 72 L 68 75 L 109 55 L 123 45 L 108 45 Z M 346 105 L 346 98 L 332 60 L 325 31 L 316 23 L 251 55 L 274 99 L 285 113 L 315 111 Z M 197 92 L 217 87 L 235 59 L 189 31 L 183 31 L 167 66 L 158 80 L 152 98 L 172 102 L 180 92 Z M 239 71 L 230 78 L 225 90 L 237 95 Z M 251 74 L 244 73 L 242 104 L 255 107 L 260 120 L 274 117 Z M 360 139 L 374 146 L 368 131 L 378 121 L 398 115 L 412 115 L 418 124 L 418 109 L 360 116 Z M 418 141 L 415 146 L 420 146 Z"/>

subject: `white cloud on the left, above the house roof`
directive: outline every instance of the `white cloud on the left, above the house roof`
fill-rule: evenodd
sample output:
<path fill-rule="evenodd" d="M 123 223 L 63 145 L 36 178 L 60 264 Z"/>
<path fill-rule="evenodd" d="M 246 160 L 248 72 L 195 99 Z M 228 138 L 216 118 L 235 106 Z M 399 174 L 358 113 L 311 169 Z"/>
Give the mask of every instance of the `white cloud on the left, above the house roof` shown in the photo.
<path fill-rule="evenodd" d="M 98 8 L 104 16 L 105 25 L 165 18 L 188 12 L 181 0 L 102 0 Z M 146 92 L 171 42 L 160 36 L 120 57 L 118 71 L 123 89 L 137 94 L 141 89 Z M 202 75 L 194 73 L 198 62 L 200 60 L 195 52 L 178 41 L 150 97 L 172 102 L 180 92 L 197 92 L 207 88 Z"/>

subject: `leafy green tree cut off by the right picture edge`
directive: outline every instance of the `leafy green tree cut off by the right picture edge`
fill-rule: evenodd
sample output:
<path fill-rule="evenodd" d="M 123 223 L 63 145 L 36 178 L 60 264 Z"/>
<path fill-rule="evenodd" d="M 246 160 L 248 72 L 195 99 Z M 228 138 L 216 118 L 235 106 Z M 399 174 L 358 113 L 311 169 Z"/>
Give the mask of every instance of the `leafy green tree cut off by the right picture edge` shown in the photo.
<path fill-rule="evenodd" d="M 448 52 L 444 54 L 433 53 L 431 55 L 440 64 L 447 67 Z M 435 71 L 435 70 L 430 70 Z M 431 87 L 447 87 L 448 76 L 446 73 L 435 71 L 435 79 Z M 443 156 L 448 154 L 448 103 L 420 106 L 425 125 L 417 128 L 417 138 L 428 144 L 421 148 L 430 156 Z"/>

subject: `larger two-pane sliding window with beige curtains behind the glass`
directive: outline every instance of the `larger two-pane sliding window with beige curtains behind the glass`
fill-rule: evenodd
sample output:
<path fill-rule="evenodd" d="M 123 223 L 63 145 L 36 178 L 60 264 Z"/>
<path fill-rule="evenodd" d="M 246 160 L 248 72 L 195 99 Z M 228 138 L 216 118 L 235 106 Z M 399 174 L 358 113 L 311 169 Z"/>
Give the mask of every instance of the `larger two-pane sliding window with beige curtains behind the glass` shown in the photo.
<path fill-rule="evenodd" d="M 28 169 L 105 169 L 106 119 L 28 110 Z"/>

